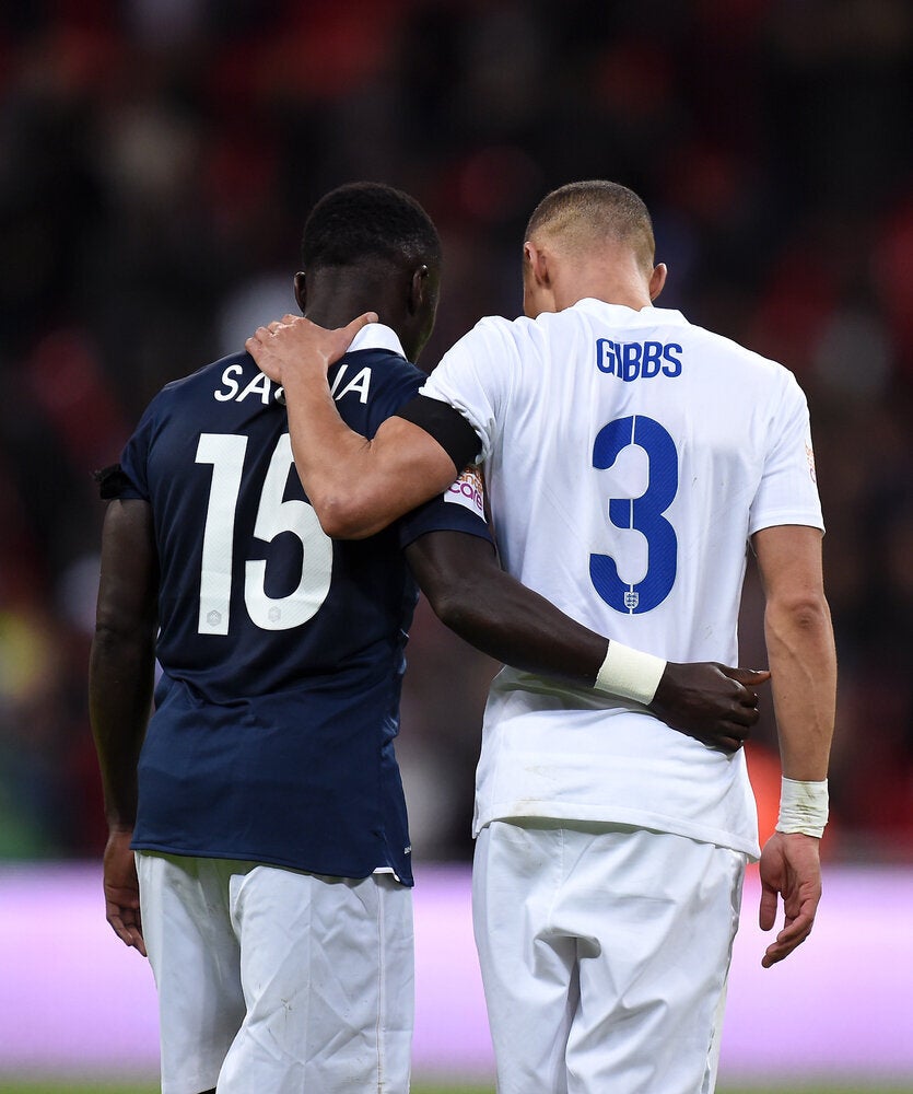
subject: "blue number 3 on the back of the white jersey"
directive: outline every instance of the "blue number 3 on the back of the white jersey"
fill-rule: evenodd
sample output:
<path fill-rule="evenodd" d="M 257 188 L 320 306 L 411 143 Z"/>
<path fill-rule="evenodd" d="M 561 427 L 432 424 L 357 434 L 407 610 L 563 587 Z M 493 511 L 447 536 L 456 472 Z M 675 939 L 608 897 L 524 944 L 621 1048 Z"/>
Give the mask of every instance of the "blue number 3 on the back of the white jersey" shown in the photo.
<path fill-rule="evenodd" d="M 631 444 L 640 445 L 647 454 L 647 488 L 640 498 L 610 499 L 609 520 L 617 528 L 640 532 L 646 539 L 646 573 L 631 584 L 621 580 L 610 555 L 590 555 L 589 577 L 608 605 L 625 615 L 640 615 L 662 604 L 676 580 L 678 540 L 663 514 L 678 491 L 678 453 L 659 422 L 636 415 L 616 418 L 599 430 L 593 446 L 593 466 L 608 469 L 622 449 Z"/>

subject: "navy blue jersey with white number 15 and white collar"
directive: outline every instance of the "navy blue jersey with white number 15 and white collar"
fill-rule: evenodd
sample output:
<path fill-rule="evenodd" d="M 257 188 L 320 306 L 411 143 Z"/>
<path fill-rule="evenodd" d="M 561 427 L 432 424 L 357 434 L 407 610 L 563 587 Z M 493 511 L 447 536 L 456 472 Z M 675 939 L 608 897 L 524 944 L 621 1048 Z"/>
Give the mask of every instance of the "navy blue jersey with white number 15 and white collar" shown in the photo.
<path fill-rule="evenodd" d="M 425 377 L 389 329 L 365 344 L 330 382 L 372 437 Z M 133 847 L 349 877 L 389 866 L 411 883 L 394 737 L 418 593 L 401 548 L 489 533 L 452 491 L 368 539 L 330 540 L 281 399 L 246 353 L 225 358 L 168 384 L 121 457 L 120 497 L 150 502 L 161 569 Z"/>

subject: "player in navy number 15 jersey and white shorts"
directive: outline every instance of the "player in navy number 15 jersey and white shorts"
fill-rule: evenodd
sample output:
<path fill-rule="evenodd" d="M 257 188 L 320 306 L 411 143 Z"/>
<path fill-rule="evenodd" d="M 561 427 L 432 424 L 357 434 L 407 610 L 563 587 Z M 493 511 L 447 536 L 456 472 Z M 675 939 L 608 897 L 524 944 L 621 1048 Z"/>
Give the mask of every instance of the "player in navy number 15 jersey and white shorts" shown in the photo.
<path fill-rule="evenodd" d="M 409 361 L 434 322 L 437 233 L 407 195 L 355 184 L 315 207 L 303 261 L 311 318 L 383 321 L 329 377 L 371 437 L 425 380 Z M 456 477 L 458 441 L 450 455 Z M 592 687 L 609 643 L 501 570 L 471 470 L 378 535 L 329 539 L 283 393 L 246 353 L 168 384 L 101 479 L 105 897 L 155 975 L 162 1090 L 405 1092 L 412 873 L 394 737 L 415 581 L 522 670 Z M 763 678 L 669 664 L 651 709 L 731 753 Z"/>

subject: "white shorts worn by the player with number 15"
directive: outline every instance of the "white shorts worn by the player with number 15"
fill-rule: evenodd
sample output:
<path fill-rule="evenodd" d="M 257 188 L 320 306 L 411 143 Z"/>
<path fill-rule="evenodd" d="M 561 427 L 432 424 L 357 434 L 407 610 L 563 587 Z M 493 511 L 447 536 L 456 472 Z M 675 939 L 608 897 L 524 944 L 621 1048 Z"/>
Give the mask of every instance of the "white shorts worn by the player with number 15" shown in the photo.
<path fill-rule="evenodd" d="M 163 1094 L 406 1094 L 411 889 L 149 852 L 137 870 Z"/>

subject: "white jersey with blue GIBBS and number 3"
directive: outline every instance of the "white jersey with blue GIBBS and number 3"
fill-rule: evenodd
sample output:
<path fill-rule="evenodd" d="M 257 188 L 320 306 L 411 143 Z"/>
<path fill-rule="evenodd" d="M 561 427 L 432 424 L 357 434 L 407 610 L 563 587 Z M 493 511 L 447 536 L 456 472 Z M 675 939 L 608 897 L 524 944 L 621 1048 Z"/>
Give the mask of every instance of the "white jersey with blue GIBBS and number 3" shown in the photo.
<path fill-rule="evenodd" d="M 749 536 L 823 527 L 792 373 L 679 312 L 587 299 L 535 321 L 485 318 L 422 394 L 481 439 L 505 569 L 669 661 L 736 664 Z M 759 851 L 741 752 L 513 668 L 491 687 L 476 789 L 476 833 L 551 817 Z"/>

